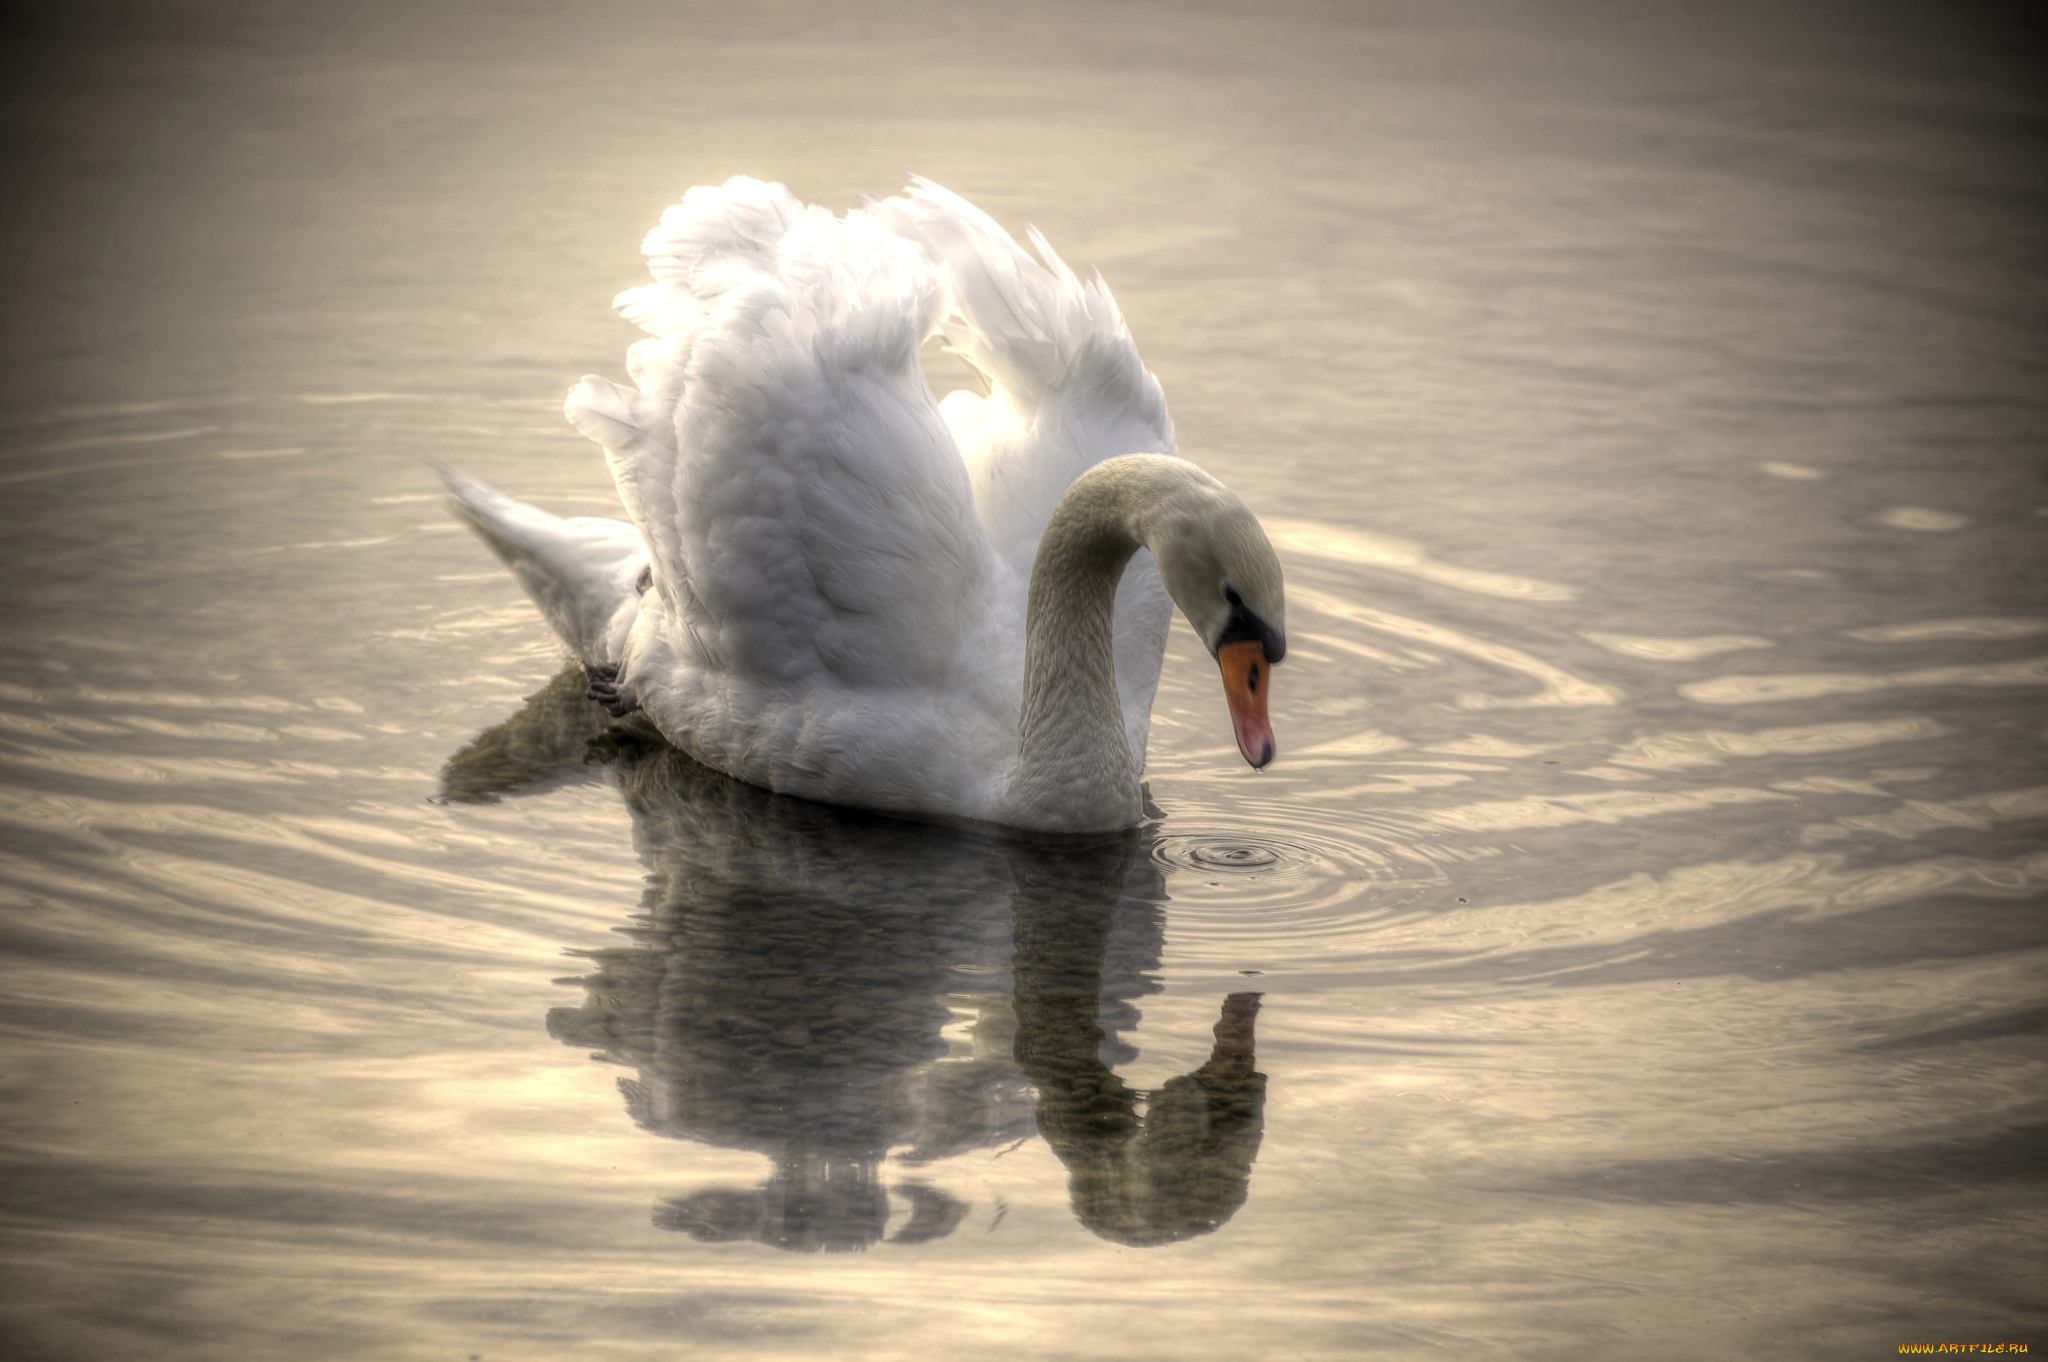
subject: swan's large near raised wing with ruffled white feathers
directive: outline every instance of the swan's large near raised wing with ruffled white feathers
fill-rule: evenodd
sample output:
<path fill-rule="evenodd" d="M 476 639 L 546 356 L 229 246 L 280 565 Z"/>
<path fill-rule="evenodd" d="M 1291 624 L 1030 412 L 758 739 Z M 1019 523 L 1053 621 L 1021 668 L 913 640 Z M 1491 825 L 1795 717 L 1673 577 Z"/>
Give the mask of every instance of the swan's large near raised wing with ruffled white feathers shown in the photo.
<path fill-rule="evenodd" d="M 647 240 L 637 389 L 586 379 L 684 651 L 737 676 L 944 684 L 987 543 L 918 369 L 946 305 L 920 250 L 780 186 L 694 188 Z"/>

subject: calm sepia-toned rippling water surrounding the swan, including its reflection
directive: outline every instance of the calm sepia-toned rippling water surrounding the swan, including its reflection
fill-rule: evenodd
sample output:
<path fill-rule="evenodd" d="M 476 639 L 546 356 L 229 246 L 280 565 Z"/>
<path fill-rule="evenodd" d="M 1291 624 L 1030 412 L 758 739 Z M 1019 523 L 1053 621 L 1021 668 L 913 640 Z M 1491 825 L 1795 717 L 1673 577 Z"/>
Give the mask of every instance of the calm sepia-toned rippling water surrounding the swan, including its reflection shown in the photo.
<path fill-rule="evenodd" d="M 6 1356 L 2048 1344 L 2003 10 L 6 25 Z M 1182 623 L 1130 838 L 604 731 L 428 461 L 614 514 L 561 397 L 739 172 L 1106 274 L 1286 563 L 1270 772 Z"/>

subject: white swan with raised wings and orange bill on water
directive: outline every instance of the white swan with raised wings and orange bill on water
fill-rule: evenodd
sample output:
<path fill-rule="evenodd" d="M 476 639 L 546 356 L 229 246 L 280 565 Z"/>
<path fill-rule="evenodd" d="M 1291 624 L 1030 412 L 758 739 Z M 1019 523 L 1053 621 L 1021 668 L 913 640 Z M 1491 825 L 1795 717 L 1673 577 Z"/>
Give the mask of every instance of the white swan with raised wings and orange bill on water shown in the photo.
<path fill-rule="evenodd" d="M 567 416 L 633 524 L 559 520 L 442 469 L 614 715 L 774 791 L 1042 832 L 1128 827 L 1171 602 L 1274 756 L 1280 561 L 1174 457 L 1108 287 L 915 180 L 846 217 L 698 186 L 616 307 L 635 387 Z M 944 330 L 987 395 L 934 401 Z M 1147 553 L 1149 549 L 1149 553 Z M 1133 557 L 1135 555 L 1135 557 Z M 1128 565 L 1128 569 L 1126 569 Z"/>

